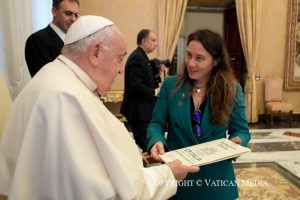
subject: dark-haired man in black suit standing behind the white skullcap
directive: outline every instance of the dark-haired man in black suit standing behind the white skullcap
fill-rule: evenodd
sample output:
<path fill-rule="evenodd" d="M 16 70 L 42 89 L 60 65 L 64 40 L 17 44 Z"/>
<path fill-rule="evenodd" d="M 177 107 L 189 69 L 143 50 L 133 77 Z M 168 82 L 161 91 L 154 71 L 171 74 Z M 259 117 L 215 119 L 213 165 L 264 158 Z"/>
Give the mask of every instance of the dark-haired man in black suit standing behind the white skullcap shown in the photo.
<path fill-rule="evenodd" d="M 79 0 L 53 0 L 52 15 L 52 22 L 26 41 L 25 60 L 31 77 L 60 54 L 67 30 L 79 17 Z"/>

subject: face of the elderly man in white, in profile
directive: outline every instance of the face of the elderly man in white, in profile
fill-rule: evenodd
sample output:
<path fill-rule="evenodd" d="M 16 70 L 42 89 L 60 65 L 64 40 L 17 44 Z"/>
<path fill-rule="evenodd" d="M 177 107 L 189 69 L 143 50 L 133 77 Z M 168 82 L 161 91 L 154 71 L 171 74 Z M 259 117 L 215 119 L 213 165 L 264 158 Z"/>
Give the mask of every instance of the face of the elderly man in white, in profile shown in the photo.
<path fill-rule="evenodd" d="M 107 50 L 102 50 L 101 60 L 98 66 L 98 75 L 101 80 L 97 81 L 98 93 L 104 95 L 111 90 L 111 86 L 118 74 L 124 72 L 124 57 L 127 54 L 127 45 L 121 32 L 112 27 L 113 39 Z"/>

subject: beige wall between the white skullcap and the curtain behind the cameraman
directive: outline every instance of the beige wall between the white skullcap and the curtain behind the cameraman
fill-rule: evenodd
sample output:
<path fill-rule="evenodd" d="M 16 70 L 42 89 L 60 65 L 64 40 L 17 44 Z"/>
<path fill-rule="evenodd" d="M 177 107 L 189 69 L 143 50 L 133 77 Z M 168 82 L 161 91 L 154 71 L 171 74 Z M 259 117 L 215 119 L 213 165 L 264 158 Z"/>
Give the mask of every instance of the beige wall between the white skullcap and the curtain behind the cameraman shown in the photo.
<path fill-rule="evenodd" d="M 124 33 L 129 55 L 136 48 L 136 36 L 141 29 L 147 28 L 157 33 L 157 2 L 158 0 L 82 0 L 80 13 L 111 19 Z M 157 54 L 156 50 L 149 57 L 156 57 Z M 112 89 L 123 90 L 123 85 L 124 75 L 120 75 Z"/>

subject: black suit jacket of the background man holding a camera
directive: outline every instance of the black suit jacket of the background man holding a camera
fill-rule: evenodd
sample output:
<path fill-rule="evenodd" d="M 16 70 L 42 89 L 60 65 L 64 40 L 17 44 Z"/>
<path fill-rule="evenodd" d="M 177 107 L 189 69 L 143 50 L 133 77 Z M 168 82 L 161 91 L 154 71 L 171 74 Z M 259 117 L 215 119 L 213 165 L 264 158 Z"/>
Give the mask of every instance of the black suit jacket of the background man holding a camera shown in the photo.
<path fill-rule="evenodd" d="M 155 104 L 155 82 L 149 59 L 140 47 L 125 65 L 124 98 L 121 113 L 127 118 L 149 122 Z"/>

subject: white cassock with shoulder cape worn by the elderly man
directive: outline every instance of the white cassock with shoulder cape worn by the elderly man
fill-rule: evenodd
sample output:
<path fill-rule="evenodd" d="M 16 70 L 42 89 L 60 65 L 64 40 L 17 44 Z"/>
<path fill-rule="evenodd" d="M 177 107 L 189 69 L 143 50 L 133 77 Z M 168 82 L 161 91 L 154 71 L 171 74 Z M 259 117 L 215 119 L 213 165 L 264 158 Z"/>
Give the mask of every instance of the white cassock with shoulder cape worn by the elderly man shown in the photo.
<path fill-rule="evenodd" d="M 16 98 L 0 144 L 0 193 L 12 200 L 166 199 L 166 165 L 143 168 L 134 140 L 60 55 Z"/>

